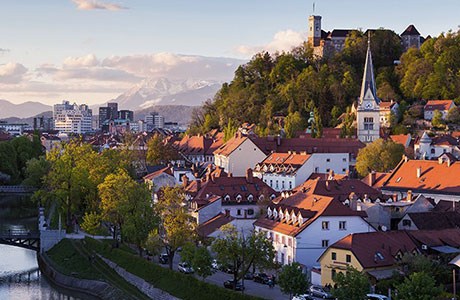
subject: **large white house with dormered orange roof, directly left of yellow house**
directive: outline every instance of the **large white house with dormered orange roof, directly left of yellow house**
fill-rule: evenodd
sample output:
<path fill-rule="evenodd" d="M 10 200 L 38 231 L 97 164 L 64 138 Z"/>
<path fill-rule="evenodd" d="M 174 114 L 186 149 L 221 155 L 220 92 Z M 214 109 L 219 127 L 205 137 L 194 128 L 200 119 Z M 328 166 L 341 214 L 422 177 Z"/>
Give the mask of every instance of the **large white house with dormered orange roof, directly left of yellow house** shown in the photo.
<path fill-rule="evenodd" d="M 273 241 L 278 262 L 311 268 L 329 245 L 347 234 L 375 231 L 365 217 L 333 197 L 300 188 L 274 199 L 254 227 Z"/>

